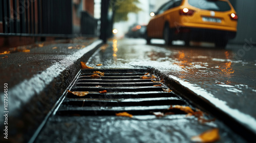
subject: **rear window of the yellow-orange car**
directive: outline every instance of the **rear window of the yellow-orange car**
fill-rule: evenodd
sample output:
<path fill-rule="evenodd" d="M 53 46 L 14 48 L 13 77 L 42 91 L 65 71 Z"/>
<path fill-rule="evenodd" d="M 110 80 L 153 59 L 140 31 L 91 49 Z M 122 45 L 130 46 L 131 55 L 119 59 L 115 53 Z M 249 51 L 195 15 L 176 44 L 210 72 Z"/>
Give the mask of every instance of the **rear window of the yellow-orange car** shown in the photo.
<path fill-rule="evenodd" d="M 231 9 L 225 1 L 218 0 L 188 0 L 188 4 L 204 10 L 228 11 Z"/>

